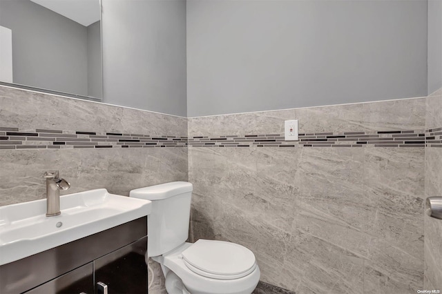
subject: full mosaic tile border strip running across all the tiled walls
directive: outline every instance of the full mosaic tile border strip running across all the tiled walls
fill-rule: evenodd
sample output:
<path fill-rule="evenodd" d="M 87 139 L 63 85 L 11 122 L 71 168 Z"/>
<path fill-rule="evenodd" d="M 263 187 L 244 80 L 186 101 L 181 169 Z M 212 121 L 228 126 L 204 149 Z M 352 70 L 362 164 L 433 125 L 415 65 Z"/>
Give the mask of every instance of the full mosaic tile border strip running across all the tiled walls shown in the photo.
<path fill-rule="evenodd" d="M 282 134 L 178 137 L 72 130 L 0 127 L 1 149 L 162 148 L 162 147 L 442 147 L 442 128 L 377 132 L 302 133 L 298 141 Z"/>

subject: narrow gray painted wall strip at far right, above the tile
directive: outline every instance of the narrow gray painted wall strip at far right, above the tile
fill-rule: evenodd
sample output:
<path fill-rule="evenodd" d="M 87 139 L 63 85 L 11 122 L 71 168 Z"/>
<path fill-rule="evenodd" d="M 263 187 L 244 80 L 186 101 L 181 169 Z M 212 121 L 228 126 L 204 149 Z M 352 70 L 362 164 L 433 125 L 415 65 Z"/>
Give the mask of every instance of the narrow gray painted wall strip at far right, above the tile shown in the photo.
<path fill-rule="evenodd" d="M 442 87 L 442 1 L 428 0 L 428 94 Z"/>

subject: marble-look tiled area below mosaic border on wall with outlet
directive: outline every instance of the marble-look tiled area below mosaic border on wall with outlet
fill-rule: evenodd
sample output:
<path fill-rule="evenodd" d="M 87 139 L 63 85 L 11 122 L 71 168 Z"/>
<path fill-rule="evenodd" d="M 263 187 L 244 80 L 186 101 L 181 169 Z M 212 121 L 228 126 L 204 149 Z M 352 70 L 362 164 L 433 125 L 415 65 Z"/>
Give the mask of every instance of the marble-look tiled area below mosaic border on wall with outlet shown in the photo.
<path fill-rule="evenodd" d="M 190 148 L 189 180 L 193 241 L 247 246 L 262 282 L 296 293 L 422 284 L 423 148 Z"/>

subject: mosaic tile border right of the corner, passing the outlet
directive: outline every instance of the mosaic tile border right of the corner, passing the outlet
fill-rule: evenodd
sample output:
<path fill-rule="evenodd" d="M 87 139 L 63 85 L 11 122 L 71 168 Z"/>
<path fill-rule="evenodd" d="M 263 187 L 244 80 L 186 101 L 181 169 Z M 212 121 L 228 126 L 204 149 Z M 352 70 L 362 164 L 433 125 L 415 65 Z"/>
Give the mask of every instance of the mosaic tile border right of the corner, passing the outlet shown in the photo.
<path fill-rule="evenodd" d="M 377 132 L 303 133 L 298 141 L 284 141 L 282 134 L 195 136 L 192 147 L 442 147 L 442 128 Z"/>

